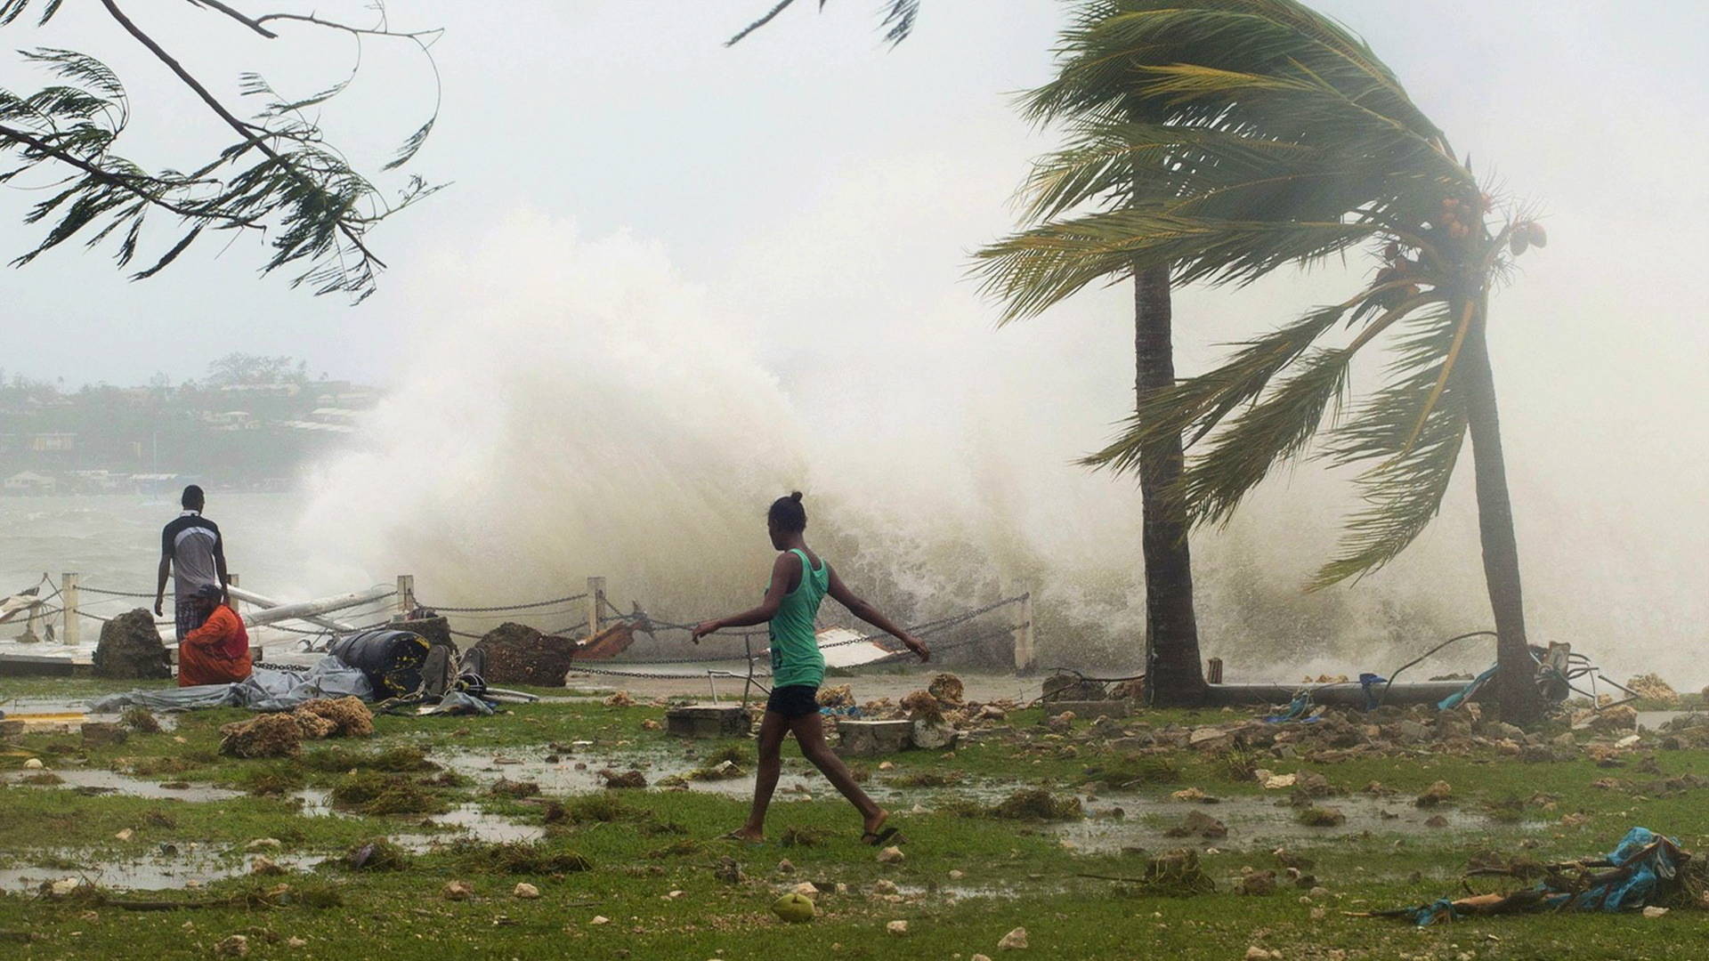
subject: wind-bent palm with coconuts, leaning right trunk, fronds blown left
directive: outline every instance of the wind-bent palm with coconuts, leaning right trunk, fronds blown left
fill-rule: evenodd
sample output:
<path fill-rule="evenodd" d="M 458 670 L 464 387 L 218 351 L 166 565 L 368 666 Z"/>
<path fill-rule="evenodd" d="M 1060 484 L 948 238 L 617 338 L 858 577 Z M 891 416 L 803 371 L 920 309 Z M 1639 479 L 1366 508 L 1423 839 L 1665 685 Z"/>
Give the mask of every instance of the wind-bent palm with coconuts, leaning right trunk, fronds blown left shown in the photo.
<path fill-rule="evenodd" d="M 1082 195 L 1135 171 L 1142 185 L 1121 207 L 1051 217 L 981 251 L 1010 320 L 1164 267 L 1178 284 L 1244 284 L 1352 248 L 1381 260 L 1347 301 L 1147 397 L 1087 462 L 1143 472 L 1162 439 L 1205 441 L 1178 494 L 1195 522 L 1224 522 L 1330 417 L 1323 453 L 1365 465 L 1367 506 L 1319 571 L 1323 587 L 1381 568 L 1418 535 L 1470 433 L 1497 693 L 1509 718 L 1535 715 L 1485 328 L 1492 284 L 1511 256 L 1547 243 L 1542 227 L 1524 212 L 1499 221 L 1470 164 L 1371 48 L 1294 0 L 1097 0 L 1070 38 L 1104 55 L 1070 63 L 1058 82 L 1123 87 L 1145 120 L 1087 121 L 1054 178 Z M 1386 383 L 1350 405 L 1352 361 L 1377 342 L 1393 351 Z"/>

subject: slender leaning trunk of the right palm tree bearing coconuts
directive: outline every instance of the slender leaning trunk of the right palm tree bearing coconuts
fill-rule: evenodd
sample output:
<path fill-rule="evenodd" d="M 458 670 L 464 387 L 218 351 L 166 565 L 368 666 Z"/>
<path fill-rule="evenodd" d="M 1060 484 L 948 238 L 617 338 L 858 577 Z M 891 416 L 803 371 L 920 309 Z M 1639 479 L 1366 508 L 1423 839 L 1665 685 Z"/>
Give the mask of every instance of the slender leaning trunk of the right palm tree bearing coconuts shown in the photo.
<path fill-rule="evenodd" d="M 1495 699 L 1502 718 L 1514 723 L 1543 713 L 1536 669 L 1524 638 L 1524 598 L 1519 590 L 1519 544 L 1512 532 L 1512 499 L 1507 494 L 1507 465 L 1501 450 L 1501 419 L 1495 412 L 1495 373 L 1485 340 L 1485 304 L 1477 306 L 1466 333 L 1465 374 L 1468 427 L 1478 496 L 1478 537 L 1483 542 L 1483 580 L 1495 614 Z"/>

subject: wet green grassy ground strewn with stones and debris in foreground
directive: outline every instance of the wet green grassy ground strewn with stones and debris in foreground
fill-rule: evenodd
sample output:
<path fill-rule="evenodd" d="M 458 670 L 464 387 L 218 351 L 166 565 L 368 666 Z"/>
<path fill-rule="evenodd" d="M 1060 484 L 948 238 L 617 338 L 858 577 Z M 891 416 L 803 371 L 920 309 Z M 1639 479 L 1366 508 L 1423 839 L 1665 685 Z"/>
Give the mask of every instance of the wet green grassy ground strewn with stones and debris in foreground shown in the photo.
<path fill-rule="evenodd" d="M 97 693 L 75 682 L 75 696 Z M 32 696 L 60 696 L 65 682 L 31 682 Z M 0 691 L 15 696 L 21 691 Z M 398 870 L 355 870 L 345 852 L 385 836 L 417 836 L 424 814 L 309 816 L 289 797 L 299 788 L 338 790 L 352 778 L 396 776 L 420 781 L 432 771 L 410 768 L 414 754 L 431 761 L 451 751 L 540 758 L 550 746 L 576 747 L 590 764 L 632 758 L 684 758 L 685 746 L 648 730 L 658 708 L 607 708 L 600 703 L 545 703 L 513 708 L 496 718 L 376 720 L 378 734 L 364 742 L 311 744 L 302 761 L 236 761 L 217 754 L 219 725 L 243 711 L 200 711 L 181 716 L 176 730 L 133 734 L 125 744 L 84 749 L 67 735 L 31 735 L 22 752 L 0 756 L 0 769 L 43 758 L 50 769 L 111 768 L 152 781 L 188 781 L 241 792 L 284 790 L 285 795 L 220 800 L 85 795 L 70 787 L 0 787 L 0 867 L 55 865 L 75 876 L 75 864 L 128 858 L 169 843 L 246 855 L 248 841 L 280 841 L 277 857 L 326 857 L 311 872 L 279 877 L 234 877 L 200 889 L 111 893 L 120 899 L 179 903 L 222 901 L 173 911 L 128 911 L 99 899 L 53 901 L 29 894 L 0 896 L 0 944 L 5 932 L 29 932 L 29 942 L 7 946 L 12 958 L 210 958 L 232 934 L 250 939 L 250 958 L 725 958 L 759 959 L 779 952 L 813 958 L 971 958 L 996 956 L 996 944 L 1013 927 L 1025 927 L 1032 947 L 1024 956 L 1131 959 L 1242 958 L 1251 946 L 1283 958 L 1697 958 L 1709 954 L 1704 915 L 1668 917 L 1514 917 L 1417 930 L 1405 923 L 1350 918 L 1343 910 L 1418 905 L 1458 893 L 1466 858 L 1487 848 L 1523 852 L 1538 860 L 1594 855 L 1610 848 L 1632 824 L 1682 838 L 1687 848 L 1709 846 L 1709 807 L 1704 790 L 1659 797 L 1653 781 L 1675 775 L 1709 778 L 1709 754 L 1658 752 L 1658 773 L 1632 766 L 1601 769 L 1589 761 L 1530 763 L 1497 756 L 1432 756 L 1301 764 L 1263 758 L 1273 771 L 1311 769 L 1336 788 L 1357 792 L 1381 781 L 1400 792 L 1396 805 L 1436 780 L 1454 787 L 1454 809 L 1470 812 L 1475 831 L 1372 831 L 1336 838 L 1302 836 L 1289 848 L 1311 858 L 1309 870 L 1326 893 L 1283 886 L 1275 894 L 1232 893 L 1242 867 L 1277 869 L 1270 845 L 1242 848 L 1198 841 L 1203 865 L 1219 893 L 1171 898 L 1145 894 L 1130 884 L 1082 877 L 1133 877 L 1145 864 L 1136 853 L 1072 850 L 1049 824 L 1005 821 L 952 811 L 947 799 L 978 787 L 978 797 L 1010 788 L 1044 787 L 1066 797 L 1111 771 L 1133 773 L 1136 763 L 1097 742 L 1073 735 L 1046 737 L 1039 711 L 1010 718 L 1029 739 L 993 737 L 955 752 L 907 752 L 868 759 L 861 768 L 873 783 L 919 781 L 906 788 L 928 812 L 897 807 L 909 843 L 906 860 L 880 864 L 858 845 L 851 811 L 824 788 L 813 800 L 779 795 L 766 846 L 737 846 L 718 834 L 740 822 L 745 802 L 702 792 L 627 790 L 584 797 L 508 799 L 482 781 L 434 783 L 420 790 L 427 807 L 475 804 L 543 831 L 531 848 L 480 845 L 422 846 Z M 1208 723 L 1220 713 L 1155 713 L 1133 723 Z M 1077 725 L 1085 730 L 1087 725 Z M 750 742 L 701 742 L 697 759 L 730 747 L 747 758 Z M 790 769 L 802 761 L 790 749 Z M 1171 758 L 1172 771 L 1145 766 L 1152 799 L 1198 787 L 1239 799 L 1263 793 L 1237 776 L 1241 758 L 1203 758 L 1188 751 Z M 878 769 L 890 761 L 892 769 Z M 385 771 L 383 768 L 400 768 Z M 359 771 L 352 775 L 350 771 Z M 1612 783 L 1608 780 L 1612 778 Z M 1603 787 L 1593 787 L 1596 781 Z M 943 781 L 950 781 L 943 787 Z M 1646 793 L 1647 792 L 1647 793 Z M 1114 802 L 1097 797 L 1097 811 Z M 1324 804 L 1336 804 L 1335 799 Z M 1215 805 L 1178 805 L 1203 811 Z M 115 834 L 128 829 L 126 840 Z M 795 843 L 784 845 L 784 840 Z M 1184 841 L 1171 841 L 1184 843 Z M 1160 846 L 1160 845 L 1159 845 Z M 1213 853 L 1208 853 L 1207 848 Z M 1155 850 L 1155 848 L 1154 848 Z M 719 877 L 719 862 L 740 862 L 745 881 Z M 783 870 L 788 860 L 793 870 Z M 583 870 L 584 867 L 584 870 Z M 952 872 L 959 877 L 952 879 Z M 473 896 L 441 896 L 448 881 L 465 881 Z M 538 899 L 513 896 L 525 881 Z M 800 881 L 812 881 L 820 917 L 808 927 L 784 925 L 769 913 L 771 901 Z M 280 893 L 279 886 L 289 886 Z M 892 893 L 892 887 L 894 893 Z M 841 887 L 839 887 L 841 886 Z M 1321 908 L 1319 918 L 1313 908 Z M 608 918 L 595 923 L 596 917 Z M 906 935 L 885 932 L 906 920 Z M 302 944 L 294 944 L 299 939 Z"/>

